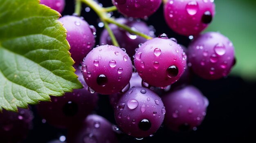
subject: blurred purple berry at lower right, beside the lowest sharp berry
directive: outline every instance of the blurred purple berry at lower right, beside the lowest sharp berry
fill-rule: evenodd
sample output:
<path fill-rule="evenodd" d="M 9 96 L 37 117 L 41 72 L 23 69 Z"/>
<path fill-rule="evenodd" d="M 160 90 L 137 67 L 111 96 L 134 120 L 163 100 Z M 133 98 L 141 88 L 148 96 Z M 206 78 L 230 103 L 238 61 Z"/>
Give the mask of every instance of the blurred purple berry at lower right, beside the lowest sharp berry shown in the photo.
<path fill-rule="evenodd" d="M 196 130 L 206 115 L 209 101 L 193 86 L 186 86 L 163 97 L 164 125 L 174 131 Z"/>

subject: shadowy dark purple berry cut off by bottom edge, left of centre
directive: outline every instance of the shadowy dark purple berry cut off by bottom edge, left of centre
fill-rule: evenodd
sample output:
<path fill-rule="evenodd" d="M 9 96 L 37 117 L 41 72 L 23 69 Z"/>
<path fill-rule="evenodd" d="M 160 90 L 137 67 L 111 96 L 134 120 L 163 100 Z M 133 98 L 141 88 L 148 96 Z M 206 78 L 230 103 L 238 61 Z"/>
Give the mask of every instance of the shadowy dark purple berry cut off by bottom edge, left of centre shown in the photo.
<path fill-rule="evenodd" d="M 105 118 L 91 114 L 80 128 L 68 132 L 68 143 L 118 143 L 112 124 Z"/>

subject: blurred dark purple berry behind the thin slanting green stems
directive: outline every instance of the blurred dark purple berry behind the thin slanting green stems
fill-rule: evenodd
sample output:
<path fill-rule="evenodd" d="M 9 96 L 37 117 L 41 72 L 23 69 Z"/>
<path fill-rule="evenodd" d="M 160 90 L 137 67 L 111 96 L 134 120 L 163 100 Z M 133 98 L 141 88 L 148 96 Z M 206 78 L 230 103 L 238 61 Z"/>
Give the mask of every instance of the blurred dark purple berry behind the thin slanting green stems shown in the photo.
<path fill-rule="evenodd" d="M 154 37 L 154 32 L 150 31 L 150 28 L 143 21 L 130 20 L 126 18 L 117 18 L 116 21 L 121 24 L 126 24 L 127 26 L 131 27 L 133 30 L 140 31 L 141 33 Z M 135 49 L 139 47 L 138 45 L 140 43 L 146 42 L 146 39 L 143 37 L 134 35 L 132 33 L 129 33 L 123 29 L 120 29 L 115 24 L 110 24 L 109 26 L 110 26 L 110 29 L 112 29 L 117 39 L 117 42 L 120 44 L 122 48 L 126 49 L 126 52 L 132 58 L 132 61 L 133 61 L 132 56 L 135 54 Z M 112 45 L 111 38 L 106 29 L 104 29 L 103 32 L 101 33 L 100 43 Z"/>

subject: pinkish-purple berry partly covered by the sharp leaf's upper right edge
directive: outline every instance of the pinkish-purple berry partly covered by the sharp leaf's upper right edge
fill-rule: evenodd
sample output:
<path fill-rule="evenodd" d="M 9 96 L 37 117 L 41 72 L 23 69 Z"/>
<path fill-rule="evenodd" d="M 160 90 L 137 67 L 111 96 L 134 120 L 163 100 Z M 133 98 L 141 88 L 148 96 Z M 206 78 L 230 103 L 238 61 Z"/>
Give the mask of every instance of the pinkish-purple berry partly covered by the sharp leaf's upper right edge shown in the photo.
<path fill-rule="evenodd" d="M 88 54 L 95 44 L 94 26 L 82 18 L 66 15 L 59 19 L 67 29 L 67 41 L 70 44 L 71 57 L 75 64 L 81 64 L 83 58 Z"/>

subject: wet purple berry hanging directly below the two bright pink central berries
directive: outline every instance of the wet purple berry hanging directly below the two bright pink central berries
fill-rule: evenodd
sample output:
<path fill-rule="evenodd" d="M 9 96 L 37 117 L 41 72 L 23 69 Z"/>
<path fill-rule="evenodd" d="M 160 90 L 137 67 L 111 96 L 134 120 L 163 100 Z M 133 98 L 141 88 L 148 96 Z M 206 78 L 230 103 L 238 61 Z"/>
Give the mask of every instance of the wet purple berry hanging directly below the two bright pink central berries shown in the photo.
<path fill-rule="evenodd" d="M 148 88 L 134 87 L 117 102 L 115 120 L 126 134 L 143 138 L 154 134 L 164 120 L 161 98 Z"/>

